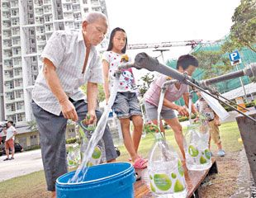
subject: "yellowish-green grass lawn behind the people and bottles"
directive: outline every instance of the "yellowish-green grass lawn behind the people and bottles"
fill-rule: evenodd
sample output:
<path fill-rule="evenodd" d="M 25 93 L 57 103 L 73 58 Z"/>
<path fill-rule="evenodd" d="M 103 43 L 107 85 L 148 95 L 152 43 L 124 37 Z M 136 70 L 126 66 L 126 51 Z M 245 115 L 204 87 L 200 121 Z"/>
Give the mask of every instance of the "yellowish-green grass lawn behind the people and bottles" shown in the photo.
<path fill-rule="evenodd" d="M 183 128 L 183 133 L 186 132 L 186 128 Z M 222 147 L 225 149 L 226 156 L 229 158 L 232 155 L 239 155 L 239 151 L 243 148 L 243 144 L 238 143 L 240 137 L 239 129 L 236 122 L 224 123 L 220 126 L 220 137 L 222 140 Z M 173 130 L 166 131 L 166 138 L 173 144 L 173 147 L 181 156 L 178 149 L 178 145 L 174 140 Z M 154 137 L 152 134 L 147 134 L 144 139 L 140 141 L 139 153 L 143 157 L 147 157 L 149 149 L 154 142 Z M 119 147 L 121 150 L 121 156 L 117 158 L 118 162 L 128 162 L 129 154 L 126 152 L 124 145 Z M 216 144 L 211 142 L 211 150 L 216 156 L 217 147 Z M 224 158 L 221 158 L 224 159 Z M 218 163 L 218 158 L 217 158 Z M 221 160 L 220 160 L 220 163 Z M 227 162 L 223 162 L 227 163 Z M 219 167 L 219 166 L 218 166 Z M 219 167 L 220 169 L 220 167 Z M 225 172 L 225 170 L 224 170 Z M 239 172 L 237 172 L 238 174 Z M 234 172 L 232 172 L 234 174 Z M 219 170 L 220 175 L 220 170 Z M 225 174 L 223 174 L 225 176 Z M 227 176 L 229 177 L 229 176 Z M 234 189 L 233 189 L 234 190 Z M 215 192 L 216 193 L 216 192 Z M 0 182 L 0 197 L 4 198 L 14 198 L 14 197 L 26 197 L 26 198 L 37 198 L 37 197 L 50 197 L 50 193 L 46 191 L 45 175 L 44 171 L 33 172 L 26 176 L 16 177 L 7 181 Z M 218 196 L 226 197 L 226 196 Z"/>

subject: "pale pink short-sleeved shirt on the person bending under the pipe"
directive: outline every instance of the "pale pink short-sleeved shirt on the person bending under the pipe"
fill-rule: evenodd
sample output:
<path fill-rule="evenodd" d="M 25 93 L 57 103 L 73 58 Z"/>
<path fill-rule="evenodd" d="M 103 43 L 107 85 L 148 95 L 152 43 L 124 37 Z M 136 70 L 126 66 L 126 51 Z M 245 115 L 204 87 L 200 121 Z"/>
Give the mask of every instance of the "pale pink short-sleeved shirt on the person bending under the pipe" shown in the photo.
<path fill-rule="evenodd" d="M 158 78 L 155 78 L 154 82 L 150 84 L 148 91 L 145 92 L 144 100 L 148 101 L 154 106 L 159 106 L 160 89 L 164 82 L 168 81 L 168 79 L 168 76 L 165 76 L 164 74 L 160 74 Z M 187 84 L 181 83 L 179 89 L 177 89 L 175 84 L 169 84 L 166 86 L 164 98 L 166 98 L 168 101 L 177 101 L 183 96 L 184 93 L 189 93 Z M 163 105 L 162 109 L 168 110 L 170 108 Z"/>

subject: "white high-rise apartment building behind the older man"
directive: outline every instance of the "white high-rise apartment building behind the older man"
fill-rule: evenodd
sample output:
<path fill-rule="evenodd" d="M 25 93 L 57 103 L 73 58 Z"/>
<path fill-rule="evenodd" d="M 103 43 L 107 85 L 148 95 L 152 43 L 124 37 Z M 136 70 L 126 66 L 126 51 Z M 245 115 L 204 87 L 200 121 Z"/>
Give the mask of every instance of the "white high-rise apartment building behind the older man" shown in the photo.
<path fill-rule="evenodd" d="M 88 12 L 107 15 L 105 0 L 1 0 L 0 120 L 32 120 L 31 91 L 53 31 L 80 29 Z M 2 43 L 1 43 L 2 42 Z M 107 41 L 102 42 L 107 47 Z"/>

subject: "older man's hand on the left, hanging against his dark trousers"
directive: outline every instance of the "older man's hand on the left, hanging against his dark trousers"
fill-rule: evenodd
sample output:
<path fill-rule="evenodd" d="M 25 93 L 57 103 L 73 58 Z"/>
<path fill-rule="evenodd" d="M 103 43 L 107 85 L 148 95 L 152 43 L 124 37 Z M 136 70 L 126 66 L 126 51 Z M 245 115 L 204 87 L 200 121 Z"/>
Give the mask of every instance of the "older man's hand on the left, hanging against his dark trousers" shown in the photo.
<path fill-rule="evenodd" d="M 75 111 L 75 108 L 69 99 L 61 101 L 60 103 L 61 111 L 64 115 L 64 118 L 71 119 L 73 121 L 78 120 L 78 114 L 77 111 Z"/>

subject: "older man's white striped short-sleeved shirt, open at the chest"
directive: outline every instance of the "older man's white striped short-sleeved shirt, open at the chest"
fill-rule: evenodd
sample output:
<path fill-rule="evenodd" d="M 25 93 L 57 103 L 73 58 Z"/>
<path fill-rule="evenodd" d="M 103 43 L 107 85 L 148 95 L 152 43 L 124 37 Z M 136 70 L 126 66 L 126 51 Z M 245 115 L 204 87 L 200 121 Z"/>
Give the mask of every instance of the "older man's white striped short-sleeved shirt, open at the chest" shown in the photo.
<path fill-rule="evenodd" d="M 55 31 L 41 54 L 41 59 L 50 59 L 55 65 L 62 89 L 74 101 L 87 99 L 80 88 L 86 82 L 104 82 L 102 62 L 95 46 L 91 46 L 86 70 L 82 73 L 85 56 L 86 46 L 82 30 Z M 43 68 L 36 78 L 32 97 L 36 104 L 45 111 L 55 115 L 60 114 L 59 101 L 45 82 Z"/>

